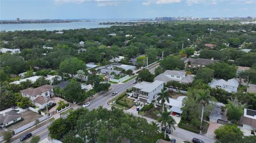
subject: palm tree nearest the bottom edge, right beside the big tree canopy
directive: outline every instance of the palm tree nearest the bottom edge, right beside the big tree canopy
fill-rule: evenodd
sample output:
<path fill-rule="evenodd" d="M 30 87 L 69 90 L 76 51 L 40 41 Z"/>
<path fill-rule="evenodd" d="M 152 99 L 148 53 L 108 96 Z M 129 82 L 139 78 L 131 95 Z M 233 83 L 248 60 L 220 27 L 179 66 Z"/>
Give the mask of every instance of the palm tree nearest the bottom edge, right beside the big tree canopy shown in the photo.
<path fill-rule="evenodd" d="M 164 112 L 161 113 L 161 117 L 159 117 L 157 121 L 161 123 L 161 127 L 165 127 L 165 130 L 171 129 L 172 132 L 173 129 L 175 130 L 174 125 L 176 124 L 176 122 L 171 116 L 171 112 L 164 110 Z M 164 138 L 166 138 L 166 131 L 164 131 Z"/>

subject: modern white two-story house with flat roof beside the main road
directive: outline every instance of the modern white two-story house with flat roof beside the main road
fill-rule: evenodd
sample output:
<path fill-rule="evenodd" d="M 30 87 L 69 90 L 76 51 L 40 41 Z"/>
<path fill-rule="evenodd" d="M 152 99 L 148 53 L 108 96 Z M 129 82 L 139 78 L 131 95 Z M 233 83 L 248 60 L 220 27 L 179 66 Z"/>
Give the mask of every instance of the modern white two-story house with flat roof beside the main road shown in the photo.
<path fill-rule="evenodd" d="M 157 94 L 164 89 L 164 82 L 155 80 L 154 82 L 142 81 L 133 86 L 132 95 L 138 98 L 140 102 L 150 104 L 152 100 L 156 100 Z"/>

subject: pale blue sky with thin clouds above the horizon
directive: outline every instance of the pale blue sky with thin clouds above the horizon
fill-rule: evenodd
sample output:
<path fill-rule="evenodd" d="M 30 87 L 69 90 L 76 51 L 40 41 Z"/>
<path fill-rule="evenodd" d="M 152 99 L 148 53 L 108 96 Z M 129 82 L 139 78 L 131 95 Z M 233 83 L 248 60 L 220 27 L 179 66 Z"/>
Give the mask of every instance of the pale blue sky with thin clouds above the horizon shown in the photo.
<path fill-rule="evenodd" d="M 0 19 L 256 17 L 256 0 L 0 0 Z"/>

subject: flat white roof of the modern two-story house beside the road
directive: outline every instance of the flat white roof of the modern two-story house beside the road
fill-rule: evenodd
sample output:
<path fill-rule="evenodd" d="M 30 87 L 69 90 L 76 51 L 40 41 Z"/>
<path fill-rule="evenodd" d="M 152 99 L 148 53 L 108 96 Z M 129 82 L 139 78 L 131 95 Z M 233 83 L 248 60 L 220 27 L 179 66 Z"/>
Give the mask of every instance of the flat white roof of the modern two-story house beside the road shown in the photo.
<path fill-rule="evenodd" d="M 162 85 L 163 83 L 164 83 L 163 81 L 159 81 L 159 80 L 155 80 L 154 82 L 142 81 L 140 83 L 137 83 L 133 87 L 138 88 L 141 91 L 150 93 L 151 91 L 156 89 L 158 86 Z"/>

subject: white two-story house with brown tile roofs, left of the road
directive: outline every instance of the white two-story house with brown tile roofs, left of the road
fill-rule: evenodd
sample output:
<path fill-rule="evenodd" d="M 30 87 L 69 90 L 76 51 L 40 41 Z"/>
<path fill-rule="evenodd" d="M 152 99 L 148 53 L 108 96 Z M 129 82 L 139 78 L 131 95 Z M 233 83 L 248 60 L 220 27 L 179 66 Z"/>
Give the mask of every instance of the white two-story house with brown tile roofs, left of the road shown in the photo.
<path fill-rule="evenodd" d="M 29 97 L 31 102 L 33 102 L 35 106 L 39 107 L 39 109 L 54 103 L 54 100 L 51 99 L 53 96 L 53 87 L 50 85 L 44 85 L 37 88 L 30 87 L 21 90 L 20 92 L 23 97 Z"/>

